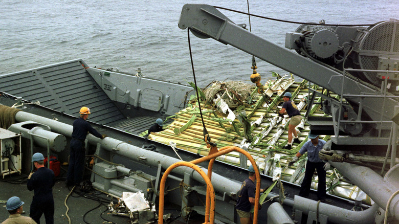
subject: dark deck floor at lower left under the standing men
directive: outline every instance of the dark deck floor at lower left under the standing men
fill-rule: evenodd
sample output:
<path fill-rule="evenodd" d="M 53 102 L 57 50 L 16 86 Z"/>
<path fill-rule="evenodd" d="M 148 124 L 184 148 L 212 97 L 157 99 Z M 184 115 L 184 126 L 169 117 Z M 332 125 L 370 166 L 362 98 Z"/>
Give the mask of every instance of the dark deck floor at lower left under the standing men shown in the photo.
<path fill-rule="evenodd" d="M 68 168 L 64 166 L 63 169 Z M 65 171 L 63 172 L 65 173 Z M 32 202 L 33 191 L 28 191 L 26 186 L 25 174 L 13 175 L 5 178 L 0 182 L 2 193 L 0 201 L 2 201 L 2 209 L 0 209 L 0 222 L 3 222 L 8 218 L 9 213 L 4 208 L 5 201 L 15 195 L 18 195 L 24 204 L 24 216 L 29 216 L 30 204 Z M 74 189 L 71 193 L 72 187 L 66 187 L 64 183 L 63 175 L 57 178 L 57 182 L 53 187 L 54 197 L 54 223 L 69 223 L 66 217 L 66 211 L 68 209 L 68 216 L 71 219 L 70 223 L 130 223 L 129 218 L 110 214 L 107 210 L 107 205 L 112 200 L 108 195 L 99 191 L 92 191 L 91 193 L 83 193 L 78 189 Z M 70 194 L 71 193 L 71 194 Z M 69 196 L 68 196 L 69 195 Z M 68 198 L 66 198 L 68 196 Z M 65 203 L 66 199 L 66 203 Z M 114 203 L 117 201 L 113 199 Z M 101 203 L 100 203 L 101 201 Z M 68 208 L 66 206 L 68 206 Z M 157 207 L 158 209 L 158 207 Z M 164 214 L 171 214 L 170 219 L 167 223 L 187 223 L 180 216 L 180 209 L 174 207 L 165 207 Z M 203 223 L 201 217 L 192 216 L 190 223 Z M 44 215 L 40 218 L 40 223 L 46 223 Z"/>

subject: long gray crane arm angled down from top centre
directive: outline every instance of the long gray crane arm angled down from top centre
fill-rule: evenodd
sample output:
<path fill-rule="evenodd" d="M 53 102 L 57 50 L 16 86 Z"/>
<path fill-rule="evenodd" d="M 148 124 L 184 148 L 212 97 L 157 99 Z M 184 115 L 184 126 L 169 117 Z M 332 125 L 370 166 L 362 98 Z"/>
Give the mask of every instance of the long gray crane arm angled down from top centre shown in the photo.
<path fill-rule="evenodd" d="M 291 50 L 278 46 L 234 24 L 213 6 L 186 4 L 183 6 L 179 28 L 189 28 L 200 38 L 213 38 L 238 48 L 303 79 L 322 86 L 339 95 L 383 95 L 370 84 L 303 57 Z M 347 101 L 358 105 L 363 100 L 364 112 L 374 121 L 391 121 L 397 101 L 392 98 L 350 97 Z M 385 102 L 384 102 L 385 101 Z"/>

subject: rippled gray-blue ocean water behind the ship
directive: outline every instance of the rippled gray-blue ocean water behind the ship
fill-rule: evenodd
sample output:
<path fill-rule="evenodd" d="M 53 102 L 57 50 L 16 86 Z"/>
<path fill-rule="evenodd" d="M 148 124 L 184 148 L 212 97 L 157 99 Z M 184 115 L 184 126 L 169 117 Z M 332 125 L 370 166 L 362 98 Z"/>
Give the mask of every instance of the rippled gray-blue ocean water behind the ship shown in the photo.
<path fill-rule="evenodd" d="M 247 1 L 2 0 L 0 75 L 81 58 L 90 66 L 117 67 L 171 82 L 193 81 L 187 30 L 178 28 L 186 3 L 248 12 Z M 397 1 L 249 0 L 252 14 L 299 22 L 373 24 L 399 19 Z M 220 10 L 236 24 L 248 16 Z M 280 46 L 299 25 L 251 17 L 252 32 Z M 190 34 L 195 75 L 204 87 L 213 80 L 248 81 L 252 56 L 213 39 Z M 287 72 L 257 59 L 262 79 Z"/>

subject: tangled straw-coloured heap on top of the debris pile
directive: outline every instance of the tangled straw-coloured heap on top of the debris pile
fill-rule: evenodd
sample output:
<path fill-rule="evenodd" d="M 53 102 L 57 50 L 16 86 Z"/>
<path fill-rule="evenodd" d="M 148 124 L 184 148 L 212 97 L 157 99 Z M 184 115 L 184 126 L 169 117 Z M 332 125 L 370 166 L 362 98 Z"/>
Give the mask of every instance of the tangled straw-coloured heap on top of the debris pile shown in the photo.
<path fill-rule="evenodd" d="M 249 102 L 251 102 L 251 92 L 253 88 L 251 84 L 234 81 L 215 81 L 209 85 L 210 87 L 206 88 L 204 91 L 205 97 L 209 103 L 213 102 L 213 99 L 221 97 L 229 108 L 234 110 L 240 105 L 248 105 Z"/>

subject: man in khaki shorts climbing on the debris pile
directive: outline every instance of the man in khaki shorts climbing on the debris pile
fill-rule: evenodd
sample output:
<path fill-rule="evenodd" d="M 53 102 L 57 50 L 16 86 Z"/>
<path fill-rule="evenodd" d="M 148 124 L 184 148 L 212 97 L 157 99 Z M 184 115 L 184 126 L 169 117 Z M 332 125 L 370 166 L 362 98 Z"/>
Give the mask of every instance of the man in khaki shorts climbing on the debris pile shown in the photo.
<path fill-rule="evenodd" d="M 301 113 L 299 112 L 299 109 L 297 105 L 293 101 L 291 101 L 292 95 L 289 92 L 286 92 L 283 96 L 283 101 L 284 104 L 279 111 L 279 116 L 283 117 L 284 113 L 287 113 L 288 116 L 291 118 L 290 123 L 288 124 L 288 143 L 286 146 L 284 146 L 284 149 L 291 149 L 292 148 L 292 135 L 294 134 L 294 143 L 301 143 L 298 138 L 297 130 L 295 130 L 295 127 L 298 126 L 298 124 L 301 123 L 302 117 Z"/>

